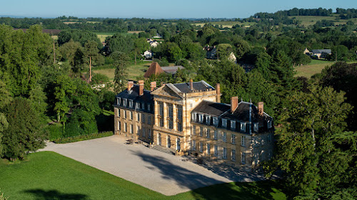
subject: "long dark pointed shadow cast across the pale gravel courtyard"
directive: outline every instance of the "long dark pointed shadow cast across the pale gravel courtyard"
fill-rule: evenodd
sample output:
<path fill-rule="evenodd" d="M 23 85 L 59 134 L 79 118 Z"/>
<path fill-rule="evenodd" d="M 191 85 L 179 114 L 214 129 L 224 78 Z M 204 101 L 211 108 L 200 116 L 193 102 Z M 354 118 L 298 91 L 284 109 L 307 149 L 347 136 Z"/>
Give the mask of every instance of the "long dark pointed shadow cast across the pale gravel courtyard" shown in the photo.
<path fill-rule="evenodd" d="M 132 152 L 153 166 L 148 167 L 149 169 L 159 172 L 161 177 L 164 179 L 176 181 L 177 185 L 181 188 L 197 189 L 203 186 L 223 183 L 223 181 L 206 177 L 202 174 L 198 174 L 197 172 L 192 172 L 181 166 L 173 164 L 164 157 L 152 156 L 142 152 Z"/>

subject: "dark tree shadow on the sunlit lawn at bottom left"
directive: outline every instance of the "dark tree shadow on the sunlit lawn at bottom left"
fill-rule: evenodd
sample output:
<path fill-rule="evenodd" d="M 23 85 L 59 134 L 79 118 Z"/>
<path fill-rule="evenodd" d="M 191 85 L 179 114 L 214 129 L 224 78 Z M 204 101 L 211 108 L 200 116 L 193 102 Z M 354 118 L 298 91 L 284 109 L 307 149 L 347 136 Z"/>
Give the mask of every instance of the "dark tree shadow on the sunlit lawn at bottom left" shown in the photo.
<path fill-rule="evenodd" d="M 84 200 L 89 199 L 86 194 L 65 194 L 57 190 L 29 189 L 25 193 L 32 194 L 36 200 Z"/>

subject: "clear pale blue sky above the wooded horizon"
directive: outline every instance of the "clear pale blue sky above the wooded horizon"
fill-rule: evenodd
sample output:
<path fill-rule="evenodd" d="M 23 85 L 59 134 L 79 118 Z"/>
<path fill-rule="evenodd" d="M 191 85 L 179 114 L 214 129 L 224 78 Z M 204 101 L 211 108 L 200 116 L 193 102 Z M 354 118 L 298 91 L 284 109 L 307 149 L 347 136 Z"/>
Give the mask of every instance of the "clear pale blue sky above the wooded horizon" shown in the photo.
<path fill-rule="evenodd" d="M 1 0 L 0 16 L 110 18 L 247 18 L 258 12 L 336 8 L 357 9 L 356 0 Z"/>

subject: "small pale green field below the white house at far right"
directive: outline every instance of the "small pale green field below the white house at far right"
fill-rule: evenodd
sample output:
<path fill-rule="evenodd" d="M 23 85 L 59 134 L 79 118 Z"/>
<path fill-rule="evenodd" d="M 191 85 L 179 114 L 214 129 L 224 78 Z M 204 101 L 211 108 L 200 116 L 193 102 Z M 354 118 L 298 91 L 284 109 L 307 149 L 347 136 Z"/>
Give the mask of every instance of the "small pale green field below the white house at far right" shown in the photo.
<path fill-rule="evenodd" d="M 312 75 L 321 73 L 323 68 L 333 65 L 333 63 L 335 62 L 326 60 L 311 60 L 311 63 L 308 65 L 297 66 L 295 68 L 295 76 L 305 76 L 306 78 L 311 78 Z"/>

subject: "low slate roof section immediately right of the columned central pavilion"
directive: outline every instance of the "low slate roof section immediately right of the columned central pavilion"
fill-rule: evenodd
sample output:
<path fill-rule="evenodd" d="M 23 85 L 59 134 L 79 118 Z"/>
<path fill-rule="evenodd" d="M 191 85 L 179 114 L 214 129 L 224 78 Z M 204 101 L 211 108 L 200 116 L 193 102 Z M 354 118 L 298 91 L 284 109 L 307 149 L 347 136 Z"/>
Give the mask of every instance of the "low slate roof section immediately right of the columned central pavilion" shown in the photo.
<path fill-rule="evenodd" d="M 192 112 L 201 112 L 209 115 L 219 116 L 228 110 L 231 110 L 231 105 L 203 100 L 192 110 Z"/>

